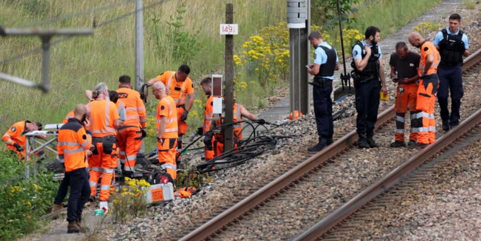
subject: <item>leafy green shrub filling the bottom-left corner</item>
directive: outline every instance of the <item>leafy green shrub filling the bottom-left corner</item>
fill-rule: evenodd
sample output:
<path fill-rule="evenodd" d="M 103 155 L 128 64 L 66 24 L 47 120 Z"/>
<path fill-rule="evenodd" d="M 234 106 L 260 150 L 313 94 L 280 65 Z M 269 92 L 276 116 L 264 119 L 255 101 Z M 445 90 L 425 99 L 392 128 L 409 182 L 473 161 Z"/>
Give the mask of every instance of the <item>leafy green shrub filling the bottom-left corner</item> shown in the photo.
<path fill-rule="evenodd" d="M 30 165 L 30 177 L 25 178 Z M 13 240 L 40 227 L 38 218 L 53 203 L 58 184 L 53 173 L 40 167 L 33 176 L 32 162 L 0 151 L 0 240 Z"/>

